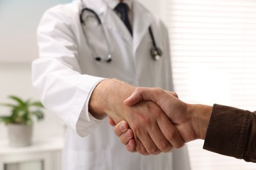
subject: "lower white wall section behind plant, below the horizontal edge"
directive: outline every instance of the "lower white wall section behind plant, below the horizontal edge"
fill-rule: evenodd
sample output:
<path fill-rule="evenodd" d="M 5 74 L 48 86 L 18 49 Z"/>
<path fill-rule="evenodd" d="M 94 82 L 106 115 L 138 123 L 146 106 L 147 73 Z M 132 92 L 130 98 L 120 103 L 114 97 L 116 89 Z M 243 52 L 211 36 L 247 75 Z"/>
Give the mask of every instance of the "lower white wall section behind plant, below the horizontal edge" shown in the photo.
<path fill-rule="evenodd" d="M 32 86 L 31 65 L 0 63 L 0 103 L 12 102 L 7 98 L 8 95 L 18 95 L 24 99 L 39 100 L 39 93 Z M 9 113 L 9 109 L 0 107 L 0 115 Z M 36 122 L 34 137 L 62 137 L 64 126 L 56 120 L 52 113 L 45 110 L 45 119 Z M 0 140 L 7 138 L 7 128 L 4 124 L 0 125 Z"/>

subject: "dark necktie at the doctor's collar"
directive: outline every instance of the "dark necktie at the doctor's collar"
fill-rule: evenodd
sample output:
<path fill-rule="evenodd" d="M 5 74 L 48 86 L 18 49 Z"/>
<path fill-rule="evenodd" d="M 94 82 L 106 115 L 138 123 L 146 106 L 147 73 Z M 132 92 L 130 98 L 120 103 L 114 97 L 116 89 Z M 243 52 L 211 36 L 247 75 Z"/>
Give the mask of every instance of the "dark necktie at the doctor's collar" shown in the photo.
<path fill-rule="evenodd" d="M 119 3 L 116 6 L 115 10 L 117 12 L 119 12 L 119 14 L 121 15 L 121 20 L 123 21 L 123 23 L 125 24 L 125 26 L 129 30 L 131 35 L 133 35 L 133 29 L 131 28 L 131 24 L 130 24 L 129 18 L 128 18 L 128 11 L 129 11 L 128 5 L 126 3 Z"/>

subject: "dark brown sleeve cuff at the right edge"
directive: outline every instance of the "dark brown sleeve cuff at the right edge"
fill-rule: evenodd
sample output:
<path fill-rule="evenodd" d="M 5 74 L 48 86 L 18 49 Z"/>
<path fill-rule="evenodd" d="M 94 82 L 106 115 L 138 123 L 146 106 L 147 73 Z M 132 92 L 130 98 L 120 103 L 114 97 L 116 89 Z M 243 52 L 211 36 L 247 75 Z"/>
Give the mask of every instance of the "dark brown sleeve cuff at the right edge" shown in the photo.
<path fill-rule="evenodd" d="M 256 162 L 256 112 L 213 105 L 203 148 Z"/>

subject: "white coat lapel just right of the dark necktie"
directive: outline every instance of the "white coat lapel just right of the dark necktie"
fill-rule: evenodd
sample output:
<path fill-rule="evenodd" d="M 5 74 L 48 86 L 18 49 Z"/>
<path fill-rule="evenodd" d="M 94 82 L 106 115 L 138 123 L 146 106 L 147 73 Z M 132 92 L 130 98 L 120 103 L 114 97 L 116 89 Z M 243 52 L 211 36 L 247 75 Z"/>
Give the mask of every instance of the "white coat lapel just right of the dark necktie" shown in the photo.
<path fill-rule="evenodd" d="M 152 14 L 139 2 L 133 1 L 133 54 L 152 24 Z"/>

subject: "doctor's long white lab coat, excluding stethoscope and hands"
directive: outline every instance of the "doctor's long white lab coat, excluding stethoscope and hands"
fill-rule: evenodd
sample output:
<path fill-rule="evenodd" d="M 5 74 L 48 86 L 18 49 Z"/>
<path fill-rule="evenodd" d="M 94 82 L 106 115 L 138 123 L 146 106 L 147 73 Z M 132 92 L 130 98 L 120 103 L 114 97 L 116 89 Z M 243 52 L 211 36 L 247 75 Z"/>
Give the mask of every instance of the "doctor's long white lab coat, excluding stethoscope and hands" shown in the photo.
<path fill-rule="evenodd" d="M 88 111 L 91 93 L 102 78 L 173 90 L 165 25 L 140 3 L 133 1 L 132 38 L 108 6 L 113 2 L 85 0 L 85 5 L 98 14 L 106 31 L 113 56 L 110 63 L 95 61 L 91 55 L 93 51 L 104 58 L 108 49 L 104 39 L 99 38 L 102 32 L 98 26 L 87 30 L 91 44 L 88 46 L 79 21 L 79 1 L 47 10 L 38 27 L 39 59 L 32 64 L 33 85 L 39 89 L 43 105 L 68 126 L 63 169 L 190 169 L 186 148 L 158 156 L 127 152 L 108 121 L 96 120 Z M 159 61 L 150 56 L 150 25 L 156 43 L 163 51 Z"/>

